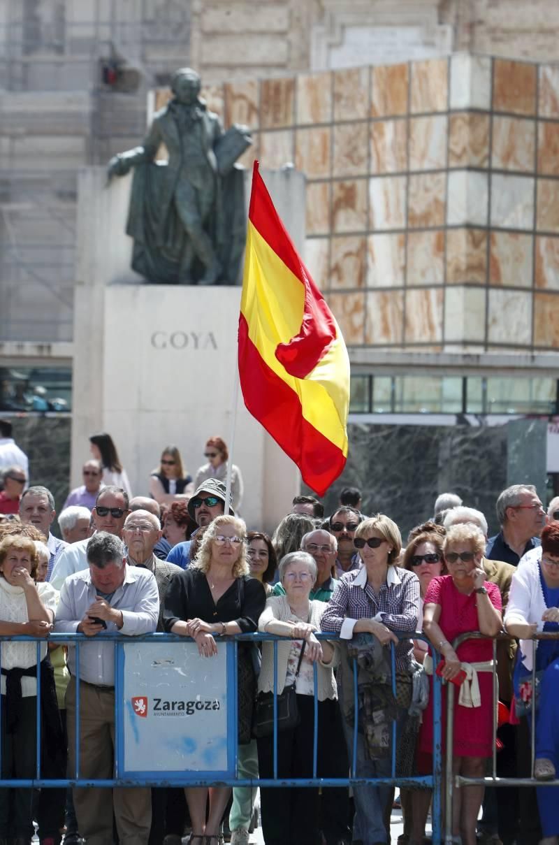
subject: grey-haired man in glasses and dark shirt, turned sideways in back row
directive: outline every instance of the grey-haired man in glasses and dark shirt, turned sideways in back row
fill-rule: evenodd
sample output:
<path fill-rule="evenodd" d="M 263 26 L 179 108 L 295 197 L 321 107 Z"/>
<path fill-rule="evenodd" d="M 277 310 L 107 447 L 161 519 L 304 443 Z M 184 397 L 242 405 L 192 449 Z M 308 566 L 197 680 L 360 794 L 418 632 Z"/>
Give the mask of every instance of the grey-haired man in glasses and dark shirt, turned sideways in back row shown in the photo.
<path fill-rule="evenodd" d="M 530 549 L 540 545 L 545 509 L 533 484 L 513 484 L 497 499 L 501 531 L 487 541 L 486 558 L 518 566 Z"/>

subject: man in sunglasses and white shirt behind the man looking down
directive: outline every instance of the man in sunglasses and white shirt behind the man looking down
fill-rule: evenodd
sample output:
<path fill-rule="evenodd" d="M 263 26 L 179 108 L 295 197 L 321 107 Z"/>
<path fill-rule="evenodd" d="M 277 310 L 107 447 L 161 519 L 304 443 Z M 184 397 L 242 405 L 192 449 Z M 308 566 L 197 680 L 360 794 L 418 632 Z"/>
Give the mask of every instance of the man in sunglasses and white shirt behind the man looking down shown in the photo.
<path fill-rule="evenodd" d="M 114 534 L 115 537 L 122 538 L 124 520 L 129 513 L 128 493 L 121 487 L 113 487 L 112 485 L 104 487 L 97 496 L 95 507 L 91 511 L 95 531 L 107 532 Z M 64 549 L 48 579 L 55 590 L 62 589 L 62 584 L 66 581 L 68 575 L 87 569 L 88 542 L 87 538 L 79 540 Z"/>

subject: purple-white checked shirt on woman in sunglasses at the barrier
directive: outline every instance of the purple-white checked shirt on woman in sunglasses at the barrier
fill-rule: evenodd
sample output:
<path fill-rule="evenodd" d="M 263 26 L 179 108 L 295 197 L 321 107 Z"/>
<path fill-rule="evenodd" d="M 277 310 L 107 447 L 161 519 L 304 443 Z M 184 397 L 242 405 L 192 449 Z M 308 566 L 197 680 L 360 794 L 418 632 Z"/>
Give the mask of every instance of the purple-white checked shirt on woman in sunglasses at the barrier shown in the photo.
<path fill-rule="evenodd" d="M 343 640 L 350 640 L 357 619 L 374 619 L 394 631 L 410 631 L 417 626 L 420 583 L 417 575 L 408 570 L 388 567 L 386 583 L 375 593 L 367 582 L 366 568 L 346 572 L 338 581 L 338 588 L 328 602 L 321 620 L 323 631 L 334 631 Z M 413 642 L 402 640 L 396 646 L 396 668 L 407 671 Z"/>

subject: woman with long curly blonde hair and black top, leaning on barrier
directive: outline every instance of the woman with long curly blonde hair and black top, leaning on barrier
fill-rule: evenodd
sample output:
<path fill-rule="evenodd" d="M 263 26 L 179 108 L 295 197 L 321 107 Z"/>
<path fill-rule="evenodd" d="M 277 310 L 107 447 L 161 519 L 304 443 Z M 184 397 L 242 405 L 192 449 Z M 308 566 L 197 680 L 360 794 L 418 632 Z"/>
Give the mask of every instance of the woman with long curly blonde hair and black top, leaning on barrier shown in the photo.
<path fill-rule="evenodd" d="M 248 574 L 246 534 L 247 526 L 242 520 L 217 516 L 204 533 L 196 559 L 187 570 L 173 577 L 167 591 L 166 631 L 193 637 L 202 657 L 217 654 L 214 634 L 247 634 L 257 630 L 266 597 L 262 584 Z M 238 686 L 240 696 L 248 692 L 252 699 L 255 678 L 249 649 L 250 646 L 239 644 Z M 243 709 L 243 701 L 239 706 L 239 730 L 242 739 L 248 741 L 252 711 Z M 242 724 L 245 721 L 247 726 Z M 218 845 L 220 820 L 231 788 L 187 787 L 185 792 L 193 827 L 191 845 Z"/>

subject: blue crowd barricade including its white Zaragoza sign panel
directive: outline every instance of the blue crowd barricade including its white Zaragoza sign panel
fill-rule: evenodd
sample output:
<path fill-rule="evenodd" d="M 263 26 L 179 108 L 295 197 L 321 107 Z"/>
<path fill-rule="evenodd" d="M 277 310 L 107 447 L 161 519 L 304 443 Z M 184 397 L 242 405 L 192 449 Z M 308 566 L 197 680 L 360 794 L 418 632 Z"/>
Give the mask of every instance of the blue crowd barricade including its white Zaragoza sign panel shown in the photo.
<path fill-rule="evenodd" d="M 414 639 L 425 640 L 421 633 Z M 3 778 L 0 787 L 163 787 L 163 786 L 239 786 L 328 788 L 350 787 L 370 783 L 378 786 L 431 788 L 432 842 L 440 845 L 442 837 L 442 742 L 441 680 L 433 677 L 433 771 L 431 775 L 398 777 L 396 772 L 396 722 L 392 725 L 391 772 L 387 777 L 357 776 L 356 750 L 358 721 L 353 726 L 352 750 L 349 750 L 348 777 L 319 777 L 317 771 L 318 700 L 317 667 L 314 666 L 314 736 L 312 777 L 278 777 L 277 699 L 274 695 L 274 777 L 247 779 L 237 777 L 237 651 L 240 643 L 274 642 L 274 693 L 278 684 L 278 641 L 282 637 L 269 634 L 242 634 L 215 639 L 217 657 L 200 657 L 198 647 L 188 637 L 172 634 L 125 636 L 102 633 L 111 641 L 115 662 L 115 766 L 113 777 L 91 778 L 81 774 L 80 736 L 80 665 L 85 644 L 92 638 L 83 634 L 51 634 L 47 638 L 30 636 L 0 637 L 3 642 L 36 643 L 37 664 L 41 662 L 41 644 L 45 641 L 61 646 L 75 646 L 75 718 L 68 716 L 67 729 L 75 736 L 75 765 L 68 777 L 45 778 L 41 774 L 41 673 L 37 673 L 36 767 L 31 779 Z M 335 641 L 332 634 L 317 634 L 319 640 Z M 410 639 L 410 633 L 399 634 Z M 390 643 L 393 694 L 396 693 L 394 644 Z M 438 658 L 438 655 L 436 655 Z M 353 661 L 354 707 L 358 712 L 357 662 Z M 85 683 L 85 682 L 83 682 Z M 0 706 L 5 703 L 0 701 Z M 0 717 L 1 717 L 0 713 Z M 167 730 L 170 726 L 171 730 Z M 188 728 L 188 729 L 187 729 Z M 3 748 L 0 748 L 0 755 Z M 147 762 L 146 762 L 147 761 Z M 138 762 L 140 765 L 138 765 Z M 146 769 L 146 766 L 149 768 Z M 1 760 L 0 760 L 1 768 Z"/>

